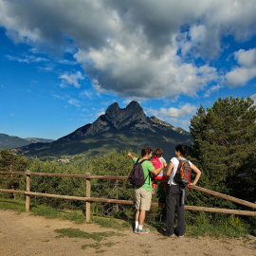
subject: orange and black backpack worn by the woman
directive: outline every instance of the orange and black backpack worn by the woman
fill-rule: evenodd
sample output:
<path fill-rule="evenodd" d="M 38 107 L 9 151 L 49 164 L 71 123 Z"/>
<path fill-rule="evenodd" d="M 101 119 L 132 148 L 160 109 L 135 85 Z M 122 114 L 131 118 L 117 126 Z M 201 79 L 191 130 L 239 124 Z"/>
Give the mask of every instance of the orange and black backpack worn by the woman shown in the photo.
<path fill-rule="evenodd" d="M 186 187 L 191 183 L 192 167 L 186 158 L 177 158 L 179 161 L 174 182 L 181 187 Z"/>

